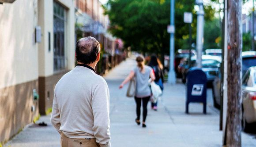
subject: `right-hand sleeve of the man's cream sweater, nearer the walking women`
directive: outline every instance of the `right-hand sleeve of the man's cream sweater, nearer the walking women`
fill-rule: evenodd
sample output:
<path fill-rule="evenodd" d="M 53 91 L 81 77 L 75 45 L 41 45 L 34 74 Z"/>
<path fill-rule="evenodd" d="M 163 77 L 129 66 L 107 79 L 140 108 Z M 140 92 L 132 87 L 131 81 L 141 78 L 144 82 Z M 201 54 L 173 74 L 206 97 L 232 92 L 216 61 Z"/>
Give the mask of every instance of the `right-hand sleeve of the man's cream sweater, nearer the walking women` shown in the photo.
<path fill-rule="evenodd" d="M 92 111 L 94 116 L 94 136 L 101 147 L 110 147 L 109 120 L 109 88 L 107 84 L 99 84 L 92 96 Z"/>

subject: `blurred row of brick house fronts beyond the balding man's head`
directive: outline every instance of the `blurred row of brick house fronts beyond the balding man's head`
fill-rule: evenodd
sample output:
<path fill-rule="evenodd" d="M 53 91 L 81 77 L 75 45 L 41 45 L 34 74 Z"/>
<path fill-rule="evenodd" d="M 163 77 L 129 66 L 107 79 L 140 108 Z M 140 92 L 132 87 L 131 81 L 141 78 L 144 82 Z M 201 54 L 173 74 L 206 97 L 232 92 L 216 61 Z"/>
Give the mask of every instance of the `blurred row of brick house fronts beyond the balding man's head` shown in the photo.
<path fill-rule="evenodd" d="M 101 44 L 102 58 L 96 71 L 102 75 L 124 60 L 127 54 L 122 52 L 121 40 L 113 37 L 107 29 L 109 18 L 99 0 L 75 0 L 77 38 L 93 36 Z"/>

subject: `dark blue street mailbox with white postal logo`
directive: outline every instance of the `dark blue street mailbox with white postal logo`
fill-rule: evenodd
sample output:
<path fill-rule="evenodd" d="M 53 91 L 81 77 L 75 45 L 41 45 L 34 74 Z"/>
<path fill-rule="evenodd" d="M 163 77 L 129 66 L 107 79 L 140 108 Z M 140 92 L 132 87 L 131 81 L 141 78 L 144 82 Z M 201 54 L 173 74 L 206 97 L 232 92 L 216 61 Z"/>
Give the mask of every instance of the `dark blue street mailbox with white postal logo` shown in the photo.
<path fill-rule="evenodd" d="M 199 102 L 203 103 L 203 113 L 206 114 L 206 90 L 206 74 L 200 68 L 190 68 L 187 73 L 186 113 L 190 102 Z"/>

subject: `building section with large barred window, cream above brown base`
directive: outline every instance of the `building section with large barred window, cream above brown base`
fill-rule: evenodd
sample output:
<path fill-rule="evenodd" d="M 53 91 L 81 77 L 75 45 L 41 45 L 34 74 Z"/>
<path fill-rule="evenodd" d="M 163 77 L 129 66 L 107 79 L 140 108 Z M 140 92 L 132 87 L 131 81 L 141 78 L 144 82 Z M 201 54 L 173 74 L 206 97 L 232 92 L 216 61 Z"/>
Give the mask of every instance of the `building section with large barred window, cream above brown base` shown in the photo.
<path fill-rule="evenodd" d="M 38 0 L 39 112 L 51 111 L 58 80 L 75 66 L 75 7 L 72 0 Z"/>

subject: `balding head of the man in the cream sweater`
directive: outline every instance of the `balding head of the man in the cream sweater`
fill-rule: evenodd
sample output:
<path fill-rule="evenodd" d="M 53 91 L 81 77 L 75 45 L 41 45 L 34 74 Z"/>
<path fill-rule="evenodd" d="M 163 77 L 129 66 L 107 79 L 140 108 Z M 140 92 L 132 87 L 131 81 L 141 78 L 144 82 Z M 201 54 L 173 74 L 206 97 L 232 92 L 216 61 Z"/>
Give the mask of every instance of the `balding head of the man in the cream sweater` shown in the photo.
<path fill-rule="evenodd" d="M 100 43 L 94 37 L 85 37 L 78 40 L 75 47 L 76 61 L 85 65 L 93 63 L 100 52 Z"/>

